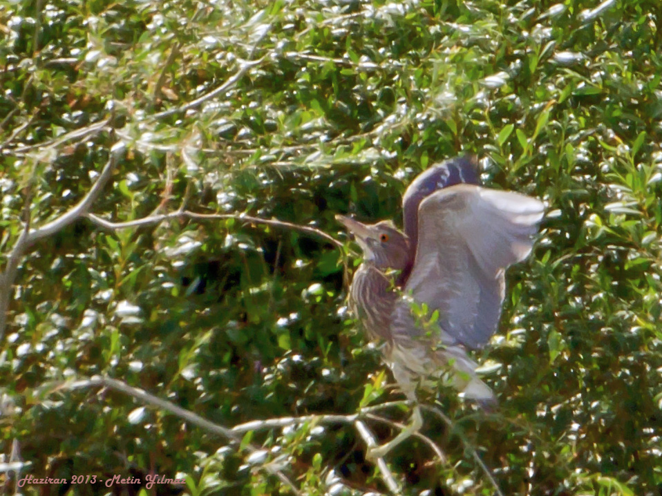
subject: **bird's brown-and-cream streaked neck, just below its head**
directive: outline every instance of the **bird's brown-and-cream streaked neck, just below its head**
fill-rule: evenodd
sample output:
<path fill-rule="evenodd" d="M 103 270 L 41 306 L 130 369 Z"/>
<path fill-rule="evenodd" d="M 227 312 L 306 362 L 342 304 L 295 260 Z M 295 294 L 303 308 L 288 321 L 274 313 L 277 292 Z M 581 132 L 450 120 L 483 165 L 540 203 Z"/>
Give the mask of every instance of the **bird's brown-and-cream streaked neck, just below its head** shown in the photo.
<path fill-rule="evenodd" d="M 397 293 L 392 281 L 372 264 L 363 263 L 350 287 L 350 307 L 372 339 L 390 341 L 390 320 Z"/>

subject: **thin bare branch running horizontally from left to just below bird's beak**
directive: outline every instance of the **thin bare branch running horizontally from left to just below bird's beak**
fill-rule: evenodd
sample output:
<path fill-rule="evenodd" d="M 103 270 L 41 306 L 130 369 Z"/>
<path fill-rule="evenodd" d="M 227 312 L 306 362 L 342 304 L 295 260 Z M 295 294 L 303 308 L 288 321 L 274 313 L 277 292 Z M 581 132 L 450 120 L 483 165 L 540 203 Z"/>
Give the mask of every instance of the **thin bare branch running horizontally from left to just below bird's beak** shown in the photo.
<path fill-rule="evenodd" d="M 93 213 L 86 214 L 87 218 L 94 222 L 96 225 L 108 229 L 111 231 L 117 229 L 130 229 L 133 227 L 142 227 L 146 225 L 153 225 L 163 222 L 164 220 L 169 219 L 197 219 L 197 220 L 227 220 L 235 219 L 242 222 L 252 222 L 254 224 L 263 224 L 283 229 L 292 229 L 294 231 L 301 231 L 303 233 L 311 234 L 313 236 L 318 236 L 330 242 L 332 245 L 335 245 L 339 248 L 342 248 L 344 245 L 339 240 L 332 238 L 324 231 L 316 229 L 315 227 L 302 226 L 299 224 L 292 224 L 292 222 L 285 222 L 283 220 L 276 219 L 263 219 L 259 217 L 245 216 L 240 213 L 195 213 L 188 210 L 175 211 L 170 213 L 160 213 L 155 216 L 144 217 L 136 220 L 129 220 L 127 222 L 110 222 L 99 216 L 95 216 Z"/>

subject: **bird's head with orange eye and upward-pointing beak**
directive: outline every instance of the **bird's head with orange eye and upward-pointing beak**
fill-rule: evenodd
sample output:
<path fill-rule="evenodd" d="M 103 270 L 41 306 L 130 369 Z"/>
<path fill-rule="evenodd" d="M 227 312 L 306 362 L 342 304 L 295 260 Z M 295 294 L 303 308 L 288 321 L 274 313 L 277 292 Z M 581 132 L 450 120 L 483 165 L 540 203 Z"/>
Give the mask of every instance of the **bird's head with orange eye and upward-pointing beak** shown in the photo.
<path fill-rule="evenodd" d="M 345 216 L 336 216 L 336 220 L 357 240 L 363 250 L 363 260 L 377 269 L 403 270 L 408 264 L 409 240 L 393 222 L 382 220 L 377 224 L 363 224 Z"/>

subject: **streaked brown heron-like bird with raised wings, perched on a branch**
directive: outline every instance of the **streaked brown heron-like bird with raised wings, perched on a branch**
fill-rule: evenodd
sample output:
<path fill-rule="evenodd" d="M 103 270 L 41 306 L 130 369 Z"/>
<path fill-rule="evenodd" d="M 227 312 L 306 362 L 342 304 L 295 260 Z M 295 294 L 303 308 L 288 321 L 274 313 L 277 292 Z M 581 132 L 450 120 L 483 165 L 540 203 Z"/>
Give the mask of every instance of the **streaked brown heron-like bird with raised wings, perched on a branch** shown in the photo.
<path fill-rule="evenodd" d="M 368 225 L 337 215 L 363 252 L 348 306 L 413 405 L 397 437 L 368 449 L 379 459 L 423 426 L 418 385 L 442 380 L 465 399 L 496 403 L 467 350 L 495 334 L 505 270 L 525 260 L 545 213 L 536 198 L 483 187 L 475 156 L 420 173 L 403 196 L 404 231 L 391 220 Z"/>

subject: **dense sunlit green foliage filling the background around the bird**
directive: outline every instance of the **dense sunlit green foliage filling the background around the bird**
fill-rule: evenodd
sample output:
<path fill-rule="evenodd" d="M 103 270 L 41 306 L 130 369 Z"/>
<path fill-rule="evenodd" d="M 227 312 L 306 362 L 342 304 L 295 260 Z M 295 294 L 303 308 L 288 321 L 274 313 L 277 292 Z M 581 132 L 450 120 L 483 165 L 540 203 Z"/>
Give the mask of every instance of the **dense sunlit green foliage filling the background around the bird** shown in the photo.
<path fill-rule="evenodd" d="M 149 494 L 290 492 L 269 464 L 306 495 L 386 493 L 351 421 L 238 446 L 68 385 L 121 379 L 227 428 L 401 399 L 346 313 L 349 242 L 239 216 L 344 242 L 335 213 L 399 222 L 406 184 L 464 152 L 548 213 L 477 357 L 500 409 L 442 389 L 453 426 L 428 411 L 422 432 L 448 459 L 401 445 L 386 461 L 402 493 L 491 495 L 491 473 L 507 495 L 660 495 L 660 27 L 657 0 L 1 0 L 3 461 L 21 477 L 187 477 Z M 91 213 L 227 218 L 80 217 L 26 247 L 10 281 L 28 219 L 74 207 L 113 146 Z"/>

